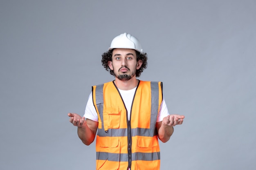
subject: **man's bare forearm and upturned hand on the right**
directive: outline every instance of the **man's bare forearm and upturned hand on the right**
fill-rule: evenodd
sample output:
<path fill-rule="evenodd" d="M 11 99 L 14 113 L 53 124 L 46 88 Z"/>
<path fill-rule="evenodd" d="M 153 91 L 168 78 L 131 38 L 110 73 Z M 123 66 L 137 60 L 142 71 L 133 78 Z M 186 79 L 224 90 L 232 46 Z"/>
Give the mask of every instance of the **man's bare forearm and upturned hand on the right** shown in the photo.
<path fill-rule="evenodd" d="M 163 121 L 157 122 L 158 138 L 164 143 L 167 142 L 173 135 L 173 126 L 182 124 L 184 118 L 183 115 L 168 115 Z"/>

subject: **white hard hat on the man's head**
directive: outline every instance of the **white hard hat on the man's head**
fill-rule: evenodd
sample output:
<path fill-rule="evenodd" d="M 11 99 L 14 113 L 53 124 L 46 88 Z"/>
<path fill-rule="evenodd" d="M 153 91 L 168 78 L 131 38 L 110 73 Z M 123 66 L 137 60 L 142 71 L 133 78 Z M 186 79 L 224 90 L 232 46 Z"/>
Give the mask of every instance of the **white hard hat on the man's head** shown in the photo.
<path fill-rule="evenodd" d="M 135 49 L 142 53 L 139 40 L 128 33 L 123 33 L 115 37 L 111 42 L 110 48 L 108 48 L 108 50 L 111 49 Z"/>

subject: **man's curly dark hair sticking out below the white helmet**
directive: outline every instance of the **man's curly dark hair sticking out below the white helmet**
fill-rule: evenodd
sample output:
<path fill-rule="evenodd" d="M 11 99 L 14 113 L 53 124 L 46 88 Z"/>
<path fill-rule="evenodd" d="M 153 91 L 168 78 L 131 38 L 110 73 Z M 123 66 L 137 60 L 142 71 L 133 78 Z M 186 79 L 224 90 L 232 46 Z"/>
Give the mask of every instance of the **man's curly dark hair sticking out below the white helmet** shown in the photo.
<path fill-rule="evenodd" d="M 106 71 L 110 71 L 111 75 L 114 75 L 114 71 L 111 70 L 108 66 L 108 62 L 112 61 L 112 52 L 114 49 L 108 50 L 107 52 L 103 53 L 102 56 L 102 66 L 104 68 L 106 68 Z M 137 55 L 137 61 L 141 60 L 142 61 L 142 65 L 139 69 L 136 70 L 136 77 L 139 77 L 140 74 L 147 68 L 148 66 L 148 55 L 147 53 L 139 53 L 138 51 L 136 51 L 136 55 Z"/>

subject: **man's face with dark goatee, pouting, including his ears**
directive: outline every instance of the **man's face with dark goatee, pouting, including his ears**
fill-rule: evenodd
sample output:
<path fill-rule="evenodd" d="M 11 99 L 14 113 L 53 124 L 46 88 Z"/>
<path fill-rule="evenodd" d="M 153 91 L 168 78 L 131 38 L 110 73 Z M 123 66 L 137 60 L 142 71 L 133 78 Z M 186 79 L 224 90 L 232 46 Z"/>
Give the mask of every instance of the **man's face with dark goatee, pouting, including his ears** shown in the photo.
<path fill-rule="evenodd" d="M 137 55 L 133 49 L 114 49 L 112 62 L 108 62 L 109 68 L 113 70 L 115 77 L 120 80 L 129 80 L 134 77 L 141 64 L 141 60 L 137 62 Z"/>

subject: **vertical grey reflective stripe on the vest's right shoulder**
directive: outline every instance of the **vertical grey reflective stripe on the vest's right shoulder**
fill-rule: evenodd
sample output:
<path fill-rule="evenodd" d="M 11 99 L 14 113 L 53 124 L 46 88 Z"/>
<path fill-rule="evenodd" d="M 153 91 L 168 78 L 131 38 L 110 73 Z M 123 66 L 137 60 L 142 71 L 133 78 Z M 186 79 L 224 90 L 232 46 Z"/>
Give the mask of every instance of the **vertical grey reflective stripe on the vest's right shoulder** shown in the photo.
<path fill-rule="evenodd" d="M 151 86 L 151 118 L 150 129 L 155 129 L 159 106 L 159 86 L 158 82 L 150 82 Z"/>

